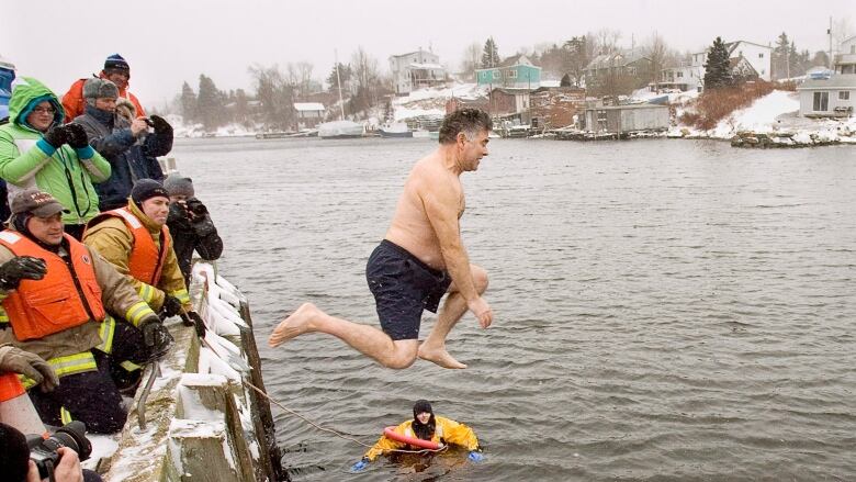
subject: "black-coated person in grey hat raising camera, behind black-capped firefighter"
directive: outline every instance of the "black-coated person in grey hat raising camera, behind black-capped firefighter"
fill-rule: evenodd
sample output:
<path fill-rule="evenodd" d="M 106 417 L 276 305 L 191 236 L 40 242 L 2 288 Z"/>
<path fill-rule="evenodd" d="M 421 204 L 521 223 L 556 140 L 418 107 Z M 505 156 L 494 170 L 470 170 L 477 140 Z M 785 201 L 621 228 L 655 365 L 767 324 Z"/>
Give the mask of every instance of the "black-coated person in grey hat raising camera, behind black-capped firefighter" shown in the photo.
<path fill-rule="evenodd" d="M 176 242 L 176 258 L 184 283 L 190 285 L 193 251 L 206 261 L 218 259 L 223 254 L 223 239 L 211 221 L 209 209 L 196 199 L 192 179 L 173 172 L 167 176 L 164 188 L 170 200 L 167 226 Z"/>

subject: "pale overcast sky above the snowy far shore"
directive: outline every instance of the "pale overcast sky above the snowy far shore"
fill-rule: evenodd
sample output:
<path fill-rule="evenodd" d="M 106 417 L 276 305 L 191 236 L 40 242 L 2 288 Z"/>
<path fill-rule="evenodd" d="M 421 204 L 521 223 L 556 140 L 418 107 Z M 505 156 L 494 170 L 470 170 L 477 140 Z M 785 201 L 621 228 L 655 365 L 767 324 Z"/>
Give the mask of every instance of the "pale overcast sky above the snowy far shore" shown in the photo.
<path fill-rule="evenodd" d="M 856 0 L 9 0 L 1 11 L 0 55 L 19 75 L 61 96 L 120 53 L 145 105 L 162 105 L 185 80 L 195 90 L 200 74 L 219 89 L 249 90 L 252 64 L 309 61 L 320 80 L 335 49 L 348 61 L 360 45 L 383 70 L 390 55 L 419 47 L 457 70 L 466 46 L 488 36 L 507 56 L 600 29 L 620 31 L 626 46 L 656 31 L 682 52 L 717 35 L 767 44 L 782 31 L 800 51 L 827 49 L 830 16 L 856 34 Z"/>

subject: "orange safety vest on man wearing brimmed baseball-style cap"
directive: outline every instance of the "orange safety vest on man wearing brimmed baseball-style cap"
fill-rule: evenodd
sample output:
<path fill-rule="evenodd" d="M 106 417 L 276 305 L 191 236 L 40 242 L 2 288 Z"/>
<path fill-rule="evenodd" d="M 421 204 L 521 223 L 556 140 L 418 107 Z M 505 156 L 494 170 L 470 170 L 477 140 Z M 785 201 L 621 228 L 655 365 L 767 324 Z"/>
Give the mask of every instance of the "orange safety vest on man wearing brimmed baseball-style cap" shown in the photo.
<path fill-rule="evenodd" d="M 90 320 L 104 320 L 101 288 L 95 279 L 89 250 L 71 236 L 64 236 L 71 251 L 70 266 L 59 255 L 19 233 L 0 232 L 0 245 L 15 256 L 42 258 L 47 265 L 47 273 L 43 279 L 21 280 L 18 289 L 10 291 L 2 302 L 19 341 L 44 338 Z"/>

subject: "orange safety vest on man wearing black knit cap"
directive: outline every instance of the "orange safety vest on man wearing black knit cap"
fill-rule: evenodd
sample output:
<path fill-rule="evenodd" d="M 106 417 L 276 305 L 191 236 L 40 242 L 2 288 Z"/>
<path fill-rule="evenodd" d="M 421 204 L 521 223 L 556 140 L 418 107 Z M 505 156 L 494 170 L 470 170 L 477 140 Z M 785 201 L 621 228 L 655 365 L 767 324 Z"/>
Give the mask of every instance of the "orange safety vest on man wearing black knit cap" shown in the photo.
<path fill-rule="evenodd" d="M 171 247 L 168 235 L 169 228 L 166 225 L 160 228 L 160 250 L 158 250 L 151 233 L 127 208 L 105 211 L 90 221 L 89 225 L 94 226 L 106 216 L 121 218 L 131 229 L 131 235 L 134 238 L 127 260 L 127 269 L 131 271 L 131 276 L 144 283 L 157 287 L 158 281 L 160 281 L 160 272 L 164 270 L 164 264 L 167 260 L 167 254 Z"/>

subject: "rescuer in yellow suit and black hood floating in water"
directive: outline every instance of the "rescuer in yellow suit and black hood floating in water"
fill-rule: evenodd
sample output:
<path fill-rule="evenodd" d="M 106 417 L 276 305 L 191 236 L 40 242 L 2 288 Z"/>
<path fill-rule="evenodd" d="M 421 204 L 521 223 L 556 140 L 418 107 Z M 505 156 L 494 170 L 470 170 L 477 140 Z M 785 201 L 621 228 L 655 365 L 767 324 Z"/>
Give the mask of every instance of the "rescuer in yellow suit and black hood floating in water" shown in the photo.
<path fill-rule="evenodd" d="M 403 422 L 395 427 L 396 434 L 405 437 L 431 440 L 442 445 L 458 445 L 470 451 L 468 459 L 473 462 L 484 460 L 478 439 L 473 429 L 451 418 L 435 416 L 430 402 L 419 400 L 413 406 L 413 419 Z M 351 466 L 352 472 L 365 469 L 379 456 L 395 450 L 419 450 L 406 442 L 393 440 L 385 435 L 381 436 L 376 444 L 357 463 Z"/>

